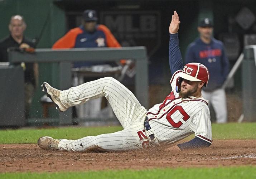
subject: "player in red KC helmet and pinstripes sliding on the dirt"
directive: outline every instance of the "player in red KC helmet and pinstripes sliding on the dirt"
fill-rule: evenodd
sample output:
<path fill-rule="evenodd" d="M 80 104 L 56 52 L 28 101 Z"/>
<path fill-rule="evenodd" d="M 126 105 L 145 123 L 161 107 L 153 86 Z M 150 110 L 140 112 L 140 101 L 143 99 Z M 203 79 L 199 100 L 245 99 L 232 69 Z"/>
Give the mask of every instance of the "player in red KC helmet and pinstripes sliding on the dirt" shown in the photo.
<path fill-rule="evenodd" d="M 58 140 L 45 136 L 38 139 L 38 146 L 45 150 L 125 151 L 173 144 L 193 133 L 194 139 L 166 150 L 179 152 L 210 146 L 212 127 L 208 101 L 201 94 L 202 88 L 207 86 L 209 71 L 200 63 L 188 63 L 183 68 L 178 40 L 179 24 L 179 16 L 174 11 L 169 26 L 172 92 L 163 103 L 146 110 L 124 85 L 111 77 L 97 79 L 64 91 L 44 82 L 43 91 L 62 112 L 71 106 L 105 96 L 124 129 L 112 134 L 86 136 L 77 140 Z"/>

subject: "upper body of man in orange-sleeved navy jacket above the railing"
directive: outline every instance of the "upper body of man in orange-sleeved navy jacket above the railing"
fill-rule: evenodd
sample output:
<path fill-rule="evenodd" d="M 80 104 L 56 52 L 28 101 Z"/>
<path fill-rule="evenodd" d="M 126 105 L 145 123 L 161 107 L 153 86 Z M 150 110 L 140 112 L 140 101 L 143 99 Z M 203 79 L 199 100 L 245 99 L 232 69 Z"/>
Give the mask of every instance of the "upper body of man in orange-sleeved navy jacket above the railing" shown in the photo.
<path fill-rule="evenodd" d="M 110 30 L 101 24 L 97 24 L 95 10 L 83 12 L 81 26 L 69 30 L 62 38 L 53 44 L 53 49 L 58 48 L 92 48 L 92 47 L 121 47 Z M 125 60 L 121 60 L 124 64 Z M 76 62 L 74 67 L 90 66 L 92 62 Z"/>

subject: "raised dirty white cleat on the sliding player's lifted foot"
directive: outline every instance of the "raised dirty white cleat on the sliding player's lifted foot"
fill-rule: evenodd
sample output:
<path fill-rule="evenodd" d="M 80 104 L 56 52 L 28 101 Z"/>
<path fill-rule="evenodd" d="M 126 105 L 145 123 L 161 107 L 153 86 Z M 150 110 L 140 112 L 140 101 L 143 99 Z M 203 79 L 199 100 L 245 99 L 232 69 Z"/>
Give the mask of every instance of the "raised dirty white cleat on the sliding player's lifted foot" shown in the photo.
<path fill-rule="evenodd" d="M 68 107 L 65 106 L 59 98 L 59 93 L 61 92 L 60 90 L 51 87 L 47 82 L 43 82 L 42 87 L 43 91 L 55 103 L 60 111 L 65 112 L 68 109 Z"/>

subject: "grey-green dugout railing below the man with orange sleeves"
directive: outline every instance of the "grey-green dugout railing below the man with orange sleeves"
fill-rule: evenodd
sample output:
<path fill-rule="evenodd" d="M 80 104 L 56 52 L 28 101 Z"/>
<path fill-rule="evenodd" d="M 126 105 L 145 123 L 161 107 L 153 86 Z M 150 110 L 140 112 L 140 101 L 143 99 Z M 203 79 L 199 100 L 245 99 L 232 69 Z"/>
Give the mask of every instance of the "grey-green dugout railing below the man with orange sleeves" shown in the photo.
<path fill-rule="evenodd" d="M 10 51 L 8 58 L 11 64 L 20 62 L 58 63 L 59 89 L 68 89 L 71 86 L 71 64 L 77 61 L 117 61 L 132 59 L 135 61 L 135 96 L 141 105 L 148 108 L 149 82 L 148 57 L 145 47 L 122 48 L 74 48 L 74 49 L 35 49 L 34 53 Z M 39 72 L 40 73 L 40 72 Z M 44 74 L 40 74 L 44 75 Z M 49 119 L 36 119 L 47 122 Z M 59 113 L 59 125 L 72 124 L 72 111 Z"/>

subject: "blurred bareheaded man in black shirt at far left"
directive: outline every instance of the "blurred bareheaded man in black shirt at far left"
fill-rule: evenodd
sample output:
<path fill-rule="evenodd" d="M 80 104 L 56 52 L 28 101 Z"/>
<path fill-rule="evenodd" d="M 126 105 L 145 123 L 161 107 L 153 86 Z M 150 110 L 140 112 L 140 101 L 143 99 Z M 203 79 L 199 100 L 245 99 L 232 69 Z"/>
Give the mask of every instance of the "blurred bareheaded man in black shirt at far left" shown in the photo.
<path fill-rule="evenodd" d="M 14 15 L 11 17 L 9 24 L 10 35 L 0 41 L 0 62 L 8 62 L 7 50 L 10 47 L 17 48 L 34 48 L 31 40 L 24 37 L 26 23 L 23 16 Z M 38 64 L 37 63 L 21 63 L 24 69 L 25 79 L 25 117 L 28 117 L 29 108 L 32 102 L 32 96 L 35 87 L 38 84 Z"/>

